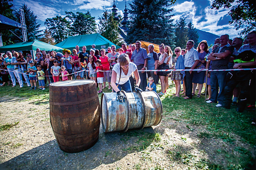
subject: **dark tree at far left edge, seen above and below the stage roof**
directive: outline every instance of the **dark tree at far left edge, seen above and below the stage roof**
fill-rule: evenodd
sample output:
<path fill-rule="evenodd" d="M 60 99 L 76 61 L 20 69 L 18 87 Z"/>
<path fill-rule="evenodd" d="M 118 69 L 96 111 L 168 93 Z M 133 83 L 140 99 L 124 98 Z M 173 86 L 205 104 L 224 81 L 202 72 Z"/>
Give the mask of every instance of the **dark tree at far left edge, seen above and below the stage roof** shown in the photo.
<path fill-rule="evenodd" d="M 13 0 L 0 0 L 1 2 L 1 8 L 0 8 L 0 14 L 14 20 L 14 15 L 13 15 L 13 4 L 11 3 Z M 9 30 L 3 29 L 0 30 L 0 33 L 3 34 L 2 40 L 3 40 L 3 45 L 6 46 L 8 44 L 13 44 L 13 41 L 11 39 L 11 36 L 13 33 L 11 33 Z"/>

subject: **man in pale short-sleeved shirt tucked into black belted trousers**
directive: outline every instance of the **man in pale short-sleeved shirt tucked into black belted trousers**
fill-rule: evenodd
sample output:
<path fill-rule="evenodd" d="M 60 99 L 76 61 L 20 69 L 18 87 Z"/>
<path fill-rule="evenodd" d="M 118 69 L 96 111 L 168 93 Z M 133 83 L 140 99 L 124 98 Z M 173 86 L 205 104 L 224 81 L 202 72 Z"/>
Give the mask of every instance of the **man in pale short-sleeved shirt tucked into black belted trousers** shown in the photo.
<path fill-rule="evenodd" d="M 199 63 L 199 56 L 198 56 L 198 51 L 194 49 L 194 41 L 189 40 L 187 41 L 187 53 L 184 57 L 184 66 L 185 69 L 195 69 L 196 65 Z M 192 79 L 194 76 L 193 71 L 185 71 L 186 76 L 184 77 L 185 81 L 185 87 L 186 87 L 186 93 L 183 99 L 192 99 L 192 88 L 193 88 L 193 83 Z"/>

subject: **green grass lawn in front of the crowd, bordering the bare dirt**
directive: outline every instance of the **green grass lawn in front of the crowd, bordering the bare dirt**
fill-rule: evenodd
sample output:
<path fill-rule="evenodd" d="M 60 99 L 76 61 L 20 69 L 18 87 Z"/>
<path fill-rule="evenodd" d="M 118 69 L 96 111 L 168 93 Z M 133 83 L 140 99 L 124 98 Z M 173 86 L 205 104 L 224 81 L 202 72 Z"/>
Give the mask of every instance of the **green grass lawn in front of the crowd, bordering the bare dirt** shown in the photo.
<path fill-rule="evenodd" d="M 172 94 L 175 93 L 175 86 L 171 81 L 169 81 L 169 85 L 167 94 L 161 96 L 163 104 L 163 120 L 161 124 L 168 121 L 182 122 L 185 124 L 184 129 L 192 132 L 197 131 L 196 135 L 201 140 L 210 141 L 211 139 L 217 139 L 230 146 L 229 149 L 225 149 L 224 146 L 212 149 L 212 152 L 216 155 L 216 160 L 222 160 L 225 165 L 214 163 L 210 160 L 203 160 L 200 162 L 201 164 L 207 164 L 209 169 L 215 170 L 249 170 L 253 166 L 255 168 L 256 127 L 250 124 L 250 118 L 255 117 L 255 110 L 245 110 L 243 113 L 239 113 L 235 110 L 236 107 L 231 107 L 230 110 L 217 108 L 215 103 L 205 103 L 204 96 L 201 98 L 193 97 L 192 100 L 184 100 L 183 97 L 173 97 Z M 24 97 L 26 100 L 49 100 L 49 88 L 46 88 L 44 91 L 29 89 L 26 86 L 23 88 L 19 88 L 19 86 L 0 87 L 0 97 L 8 95 L 11 97 Z M 157 92 L 159 91 L 160 85 L 157 85 Z M 106 87 L 103 89 L 103 92 L 110 93 L 111 91 Z M 101 94 L 99 94 L 99 99 L 100 97 Z M 2 126 L 0 130 L 4 128 Z M 131 132 L 127 132 L 127 134 L 129 133 Z M 135 136 L 137 135 L 135 134 Z M 240 143 L 246 143 L 249 148 L 244 147 Z M 206 147 L 205 145 L 207 145 L 207 142 L 203 143 L 201 147 Z M 192 160 L 193 156 L 189 154 L 180 153 L 179 156 L 177 153 L 168 152 L 172 160 Z M 199 167 L 195 165 L 195 169 L 202 169 Z"/>

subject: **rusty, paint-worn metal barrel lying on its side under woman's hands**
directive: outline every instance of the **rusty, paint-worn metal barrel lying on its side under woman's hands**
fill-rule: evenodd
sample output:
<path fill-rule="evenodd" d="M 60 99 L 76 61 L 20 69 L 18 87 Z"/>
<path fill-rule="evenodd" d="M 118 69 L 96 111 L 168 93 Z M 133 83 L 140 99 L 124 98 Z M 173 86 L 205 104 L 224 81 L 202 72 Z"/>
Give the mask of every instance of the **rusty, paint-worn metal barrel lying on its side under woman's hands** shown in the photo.
<path fill-rule="evenodd" d="M 103 93 L 101 97 L 103 131 L 127 131 L 156 126 L 163 116 L 160 97 L 154 91 L 126 93 L 125 102 L 116 100 L 116 93 Z"/>

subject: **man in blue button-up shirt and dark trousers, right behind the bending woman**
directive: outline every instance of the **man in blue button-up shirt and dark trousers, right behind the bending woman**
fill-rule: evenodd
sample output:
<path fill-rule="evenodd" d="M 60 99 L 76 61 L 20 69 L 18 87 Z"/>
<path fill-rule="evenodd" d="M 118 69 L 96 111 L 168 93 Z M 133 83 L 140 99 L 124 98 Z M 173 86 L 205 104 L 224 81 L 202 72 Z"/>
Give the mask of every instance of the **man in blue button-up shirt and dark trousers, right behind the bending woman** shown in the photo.
<path fill-rule="evenodd" d="M 141 80 L 140 89 L 145 91 L 147 87 L 147 75 L 143 70 L 146 70 L 147 68 L 147 50 L 141 47 L 140 41 L 136 41 L 135 45 L 136 50 L 134 50 L 132 53 L 131 61 L 136 64 L 138 70 L 142 70 L 139 71 L 139 76 Z"/>

